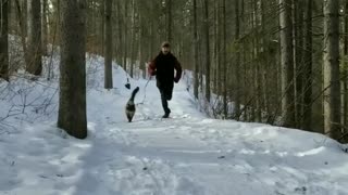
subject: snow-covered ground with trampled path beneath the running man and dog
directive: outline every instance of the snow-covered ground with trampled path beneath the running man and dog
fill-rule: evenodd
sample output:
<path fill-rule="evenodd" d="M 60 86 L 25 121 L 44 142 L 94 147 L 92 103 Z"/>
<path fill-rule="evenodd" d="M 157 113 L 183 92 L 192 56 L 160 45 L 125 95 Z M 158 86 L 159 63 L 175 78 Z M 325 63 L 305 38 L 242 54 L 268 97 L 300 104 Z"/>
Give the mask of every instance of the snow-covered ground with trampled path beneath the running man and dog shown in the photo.
<path fill-rule="evenodd" d="M 336 142 L 209 119 L 185 82 L 175 84 L 171 118 L 162 119 L 156 81 L 130 80 L 140 104 L 128 123 L 126 75 L 114 66 L 115 89 L 104 90 L 102 63 L 88 60 L 86 140 L 55 127 L 58 78 L 0 83 L 1 195 L 348 194 L 348 155 Z"/>

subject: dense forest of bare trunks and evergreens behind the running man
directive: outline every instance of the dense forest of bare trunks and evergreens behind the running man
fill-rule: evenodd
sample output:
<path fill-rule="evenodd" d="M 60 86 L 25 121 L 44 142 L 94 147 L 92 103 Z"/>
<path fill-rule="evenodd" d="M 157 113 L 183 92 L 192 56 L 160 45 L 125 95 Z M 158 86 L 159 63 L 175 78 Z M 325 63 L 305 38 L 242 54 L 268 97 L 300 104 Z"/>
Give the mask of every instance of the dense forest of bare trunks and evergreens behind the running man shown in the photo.
<path fill-rule="evenodd" d="M 49 44 L 64 46 L 70 27 L 79 40 L 67 43 L 105 57 L 107 89 L 112 61 L 146 78 L 147 62 L 166 40 L 191 70 L 194 95 L 211 117 L 346 140 L 346 1 L 86 0 L 71 14 L 64 2 L 1 1 L 3 79 L 21 68 L 40 76 L 41 55 L 50 55 Z M 8 54 L 9 35 L 21 37 L 24 62 Z"/>

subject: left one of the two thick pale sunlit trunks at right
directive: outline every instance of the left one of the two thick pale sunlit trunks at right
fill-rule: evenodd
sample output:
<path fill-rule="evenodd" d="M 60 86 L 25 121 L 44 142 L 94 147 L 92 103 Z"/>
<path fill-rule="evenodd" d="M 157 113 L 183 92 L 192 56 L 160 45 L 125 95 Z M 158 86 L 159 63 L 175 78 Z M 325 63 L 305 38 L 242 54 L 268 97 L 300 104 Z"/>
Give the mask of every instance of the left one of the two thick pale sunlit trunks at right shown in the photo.
<path fill-rule="evenodd" d="M 291 0 L 279 0 L 281 52 L 282 52 L 282 118 L 284 127 L 295 125 L 294 50 Z"/>

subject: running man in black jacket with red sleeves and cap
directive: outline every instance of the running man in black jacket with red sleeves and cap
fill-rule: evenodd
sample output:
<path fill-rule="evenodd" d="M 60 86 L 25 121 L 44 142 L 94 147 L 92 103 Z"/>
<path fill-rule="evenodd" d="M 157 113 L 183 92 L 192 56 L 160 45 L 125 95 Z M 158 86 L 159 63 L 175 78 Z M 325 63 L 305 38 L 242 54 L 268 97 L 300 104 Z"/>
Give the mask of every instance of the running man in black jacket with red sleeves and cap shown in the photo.
<path fill-rule="evenodd" d="M 176 70 L 175 77 L 174 69 Z M 177 83 L 182 77 L 181 63 L 171 53 L 171 46 L 169 42 L 162 43 L 161 52 L 149 63 L 148 72 L 151 76 L 156 75 L 157 87 L 160 90 L 164 109 L 163 118 L 167 118 L 171 114 L 167 101 L 172 100 L 174 82 Z"/>

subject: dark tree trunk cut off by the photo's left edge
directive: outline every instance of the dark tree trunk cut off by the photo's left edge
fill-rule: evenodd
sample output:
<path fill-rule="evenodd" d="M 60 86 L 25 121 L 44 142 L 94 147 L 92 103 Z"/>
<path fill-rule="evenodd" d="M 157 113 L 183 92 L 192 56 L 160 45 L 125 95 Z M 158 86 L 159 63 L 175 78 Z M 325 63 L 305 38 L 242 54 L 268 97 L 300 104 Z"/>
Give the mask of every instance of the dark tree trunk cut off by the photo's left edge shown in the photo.
<path fill-rule="evenodd" d="M 0 0 L 0 78 L 9 80 L 9 0 Z"/>

